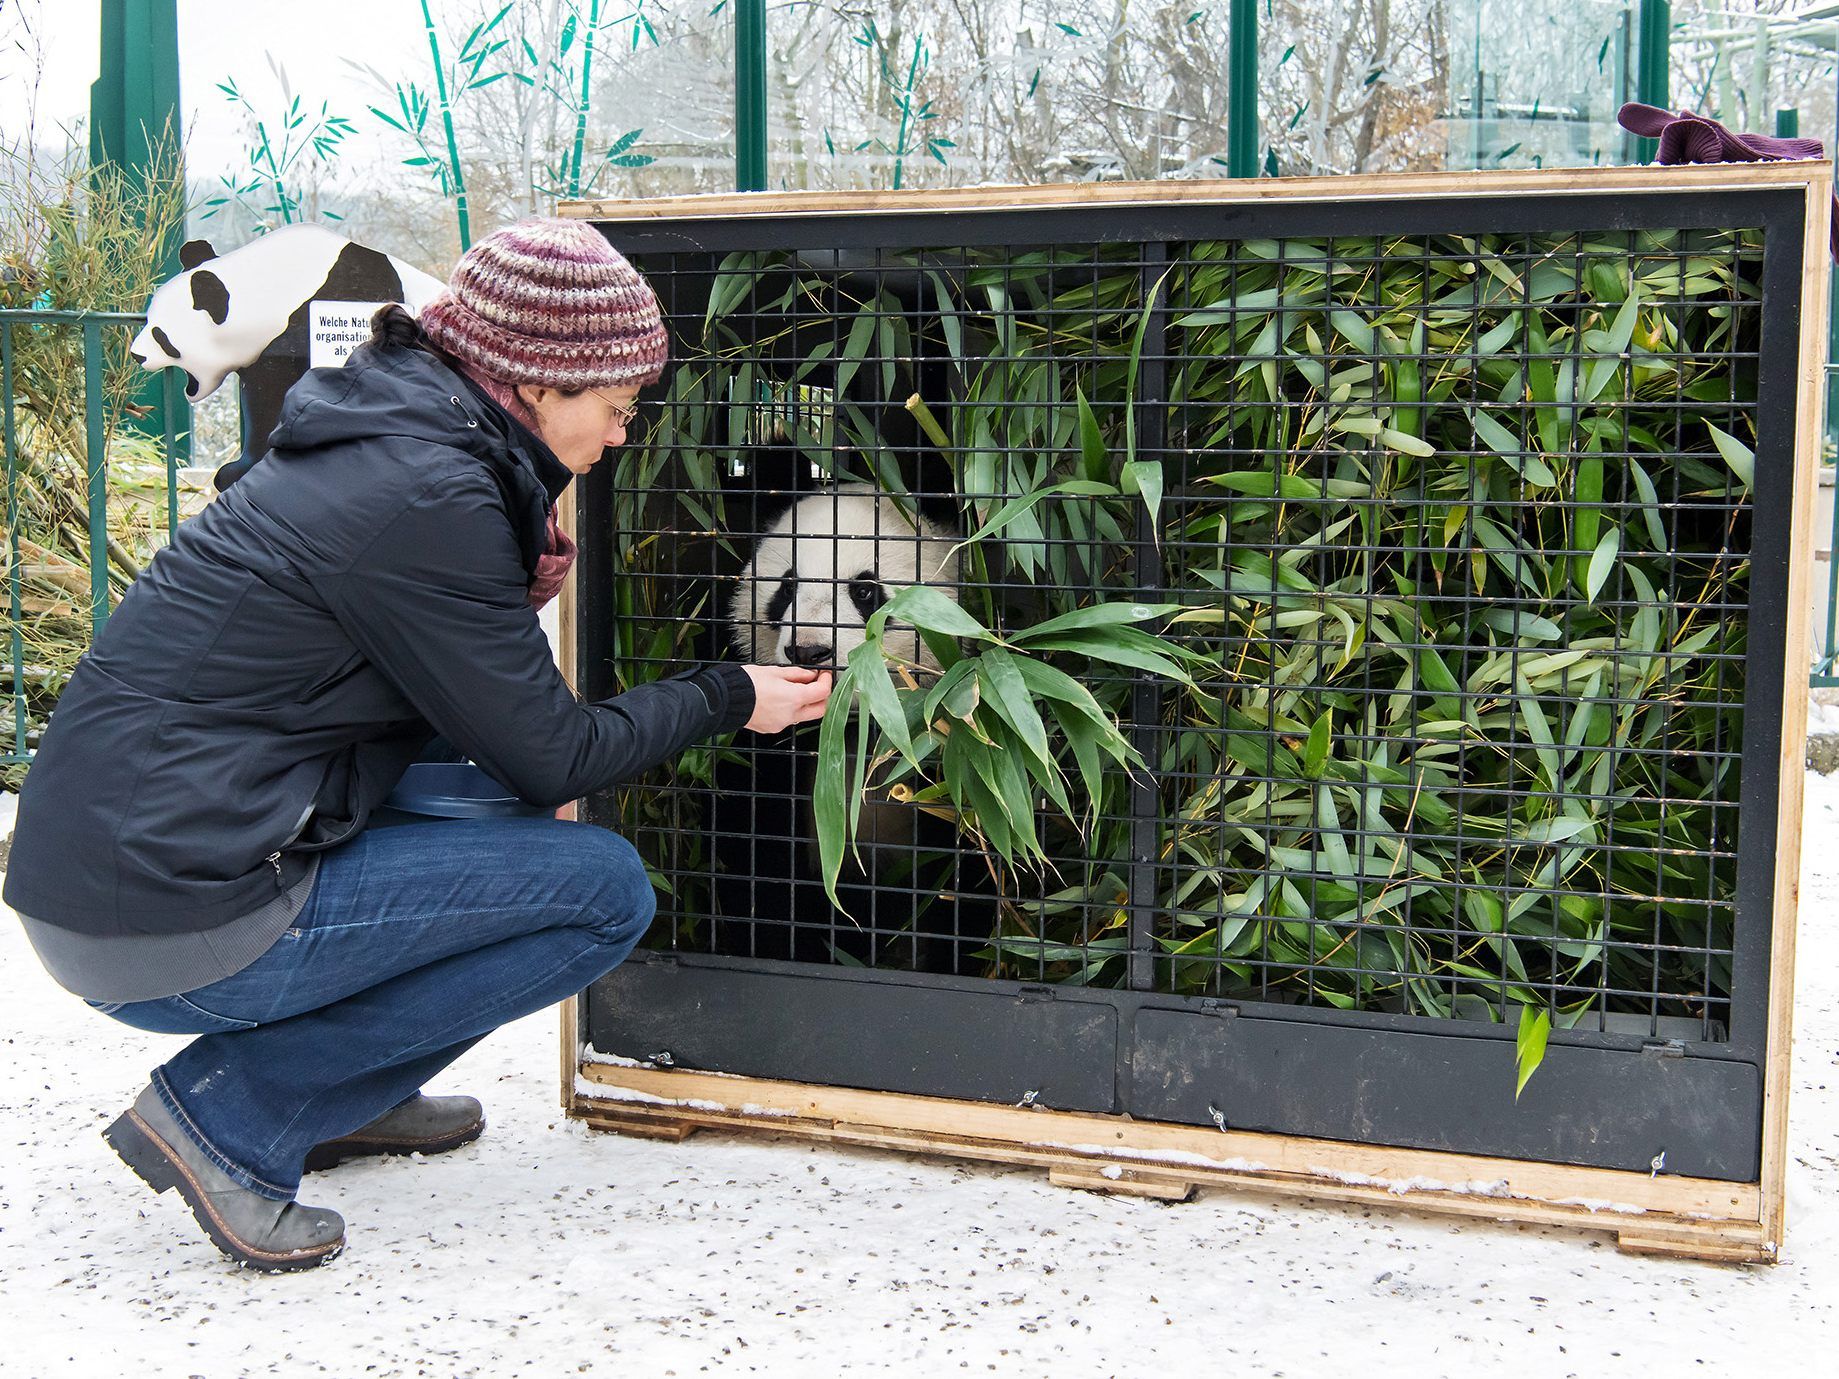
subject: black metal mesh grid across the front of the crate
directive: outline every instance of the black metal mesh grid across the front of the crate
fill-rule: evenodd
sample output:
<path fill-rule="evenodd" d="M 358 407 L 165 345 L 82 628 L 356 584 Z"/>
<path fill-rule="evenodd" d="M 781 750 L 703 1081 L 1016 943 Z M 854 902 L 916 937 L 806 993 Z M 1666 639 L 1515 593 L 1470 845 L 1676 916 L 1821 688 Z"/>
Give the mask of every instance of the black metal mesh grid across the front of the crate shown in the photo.
<path fill-rule="evenodd" d="M 877 546 L 1000 519 L 949 581 L 989 627 L 1168 599 L 1212 662 L 1188 688 L 1048 655 L 1146 769 L 1083 829 L 1034 798 L 1041 872 L 903 781 L 848 916 L 813 730 L 691 752 L 601 807 L 664 890 L 655 941 L 1723 1037 L 1760 232 L 634 261 L 675 364 L 612 482 L 607 690 L 723 655 L 736 576 L 787 513 L 822 544 L 831 480 L 894 495 Z M 1131 458 L 1137 493 L 1067 491 Z M 848 625 L 855 574 L 800 583 Z"/>

